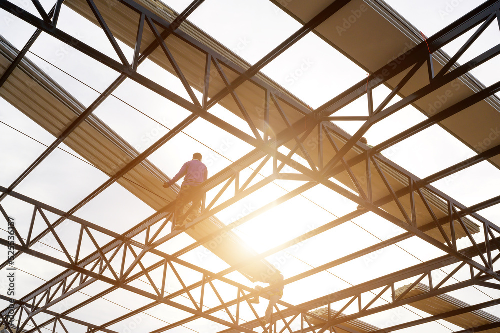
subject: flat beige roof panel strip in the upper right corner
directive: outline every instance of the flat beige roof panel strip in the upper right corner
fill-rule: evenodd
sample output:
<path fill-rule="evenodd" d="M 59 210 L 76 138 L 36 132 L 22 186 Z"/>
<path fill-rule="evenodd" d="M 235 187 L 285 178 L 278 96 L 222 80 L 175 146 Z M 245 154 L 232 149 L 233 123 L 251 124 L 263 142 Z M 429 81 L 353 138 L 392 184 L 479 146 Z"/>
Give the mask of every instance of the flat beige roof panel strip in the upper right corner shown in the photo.
<path fill-rule="evenodd" d="M 476 5 L 474 3 L 473 6 Z M 364 6 L 364 11 L 361 11 L 361 6 Z M 299 7 L 300 4 L 295 3 L 293 6 L 286 6 L 286 10 L 290 10 L 298 19 L 305 20 L 303 16 L 307 12 L 310 15 L 312 8 L 309 8 L 308 11 L 303 11 L 299 10 Z M 410 7 L 408 6 L 408 8 Z M 315 8 L 314 12 L 317 13 L 319 10 L 320 8 Z M 352 10 L 361 11 L 360 17 L 356 18 Z M 350 16 L 353 17 L 353 22 L 349 23 L 347 21 L 349 23 L 348 29 L 345 29 L 346 31 L 342 30 L 343 33 L 339 35 L 335 30 L 335 26 L 341 27 L 342 19 L 347 19 Z M 371 28 L 374 25 L 376 25 L 376 29 Z M 351 1 L 347 6 L 342 8 L 342 11 L 337 12 L 317 28 L 317 32 L 329 40 L 332 45 L 341 48 L 351 59 L 360 63 L 361 66 L 368 68 L 370 71 L 377 70 L 388 61 L 416 46 L 423 39 L 418 30 L 407 23 L 404 18 L 397 15 L 391 8 L 387 9 L 380 3 L 372 1 L 370 1 L 370 5 L 366 5 L 362 1 Z M 389 35 L 390 38 L 386 38 Z M 359 47 L 359 45 L 363 47 Z M 377 56 L 372 56 L 373 54 Z M 439 68 L 442 68 L 440 63 L 444 60 L 440 55 L 435 54 L 434 56 L 436 57 L 434 59 L 434 66 L 435 71 L 437 71 Z M 393 79 L 389 80 L 389 84 L 395 86 L 396 82 L 393 81 Z M 465 96 L 469 96 L 480 86 L 480 83 L 470 77 L 462 77 L 461 81 L 453 81 L 451 84 L 445 85 L 427 97 L 421 98 L 415 102 L 415 105 L 424 112 L 427 112 L 427 114 L 432 115 L 456 103 Z M 460 88 L 457 90 L 456 87 Z M 403 94 L 406 94 L 405 89 L 406 87 L 401 90 Z M 444 102 L 439 101 L 438 97 L 440 96 L 441 98 L 445 96 L 446 100 Z M 438 107 L 436 108 L 433 106 L 433 103 L 440 104 L 437 104 Z M 499 103 L 494 98 L 490 103 L 488 106 L 477 103 L 471 109 L 474 112 L 481 110 L 480 112 L 484 114 L 483 119 L 488 119 L 489 123 L 498 123 L 500 119 L 498 118 L 500 115 L 497 111 Z M 470 131 L 470 127 L 467 126 L 469 123 L 470 120 L 454 124 L 443 121 L 442 124 L 446 129 L 454 133 L 454 135 L 461 138 L 463 142 L 473 147 L 476 142 L 481 141 L 479 136 L 473 135 L 474 132 L 487 131 L 489 126 L 484 123 L 477 123 L 474 126 L 475 131 Z"/>

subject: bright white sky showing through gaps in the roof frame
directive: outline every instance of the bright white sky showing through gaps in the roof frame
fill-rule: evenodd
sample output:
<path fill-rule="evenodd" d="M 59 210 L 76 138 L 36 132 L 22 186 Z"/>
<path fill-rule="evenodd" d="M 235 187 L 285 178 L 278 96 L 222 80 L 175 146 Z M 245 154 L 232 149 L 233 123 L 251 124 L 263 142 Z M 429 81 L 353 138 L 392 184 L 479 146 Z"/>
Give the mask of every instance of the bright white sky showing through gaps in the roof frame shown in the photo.
<path fill-rule="evenodd" d="M 33 13 L 35 12 L 33 5 L 26 0 L 12 2 L 28 8 Z M 53 5 L 52 2 L 46 0 L 42 1 L 42 4 L 45 8 L 49 8 Z M 177 12 L 181 12 L 191 1 L 175 0 L 164 2 Z M 455 2 L 458 3 L 456 6 L 450 4 Z M 424 0 L 418 1 L 418 5 L 416 5 L 415 1 L 408 0 L 387 1 L 390 6 L 401 13 L 426 36 L 436 33 L 482 2 L 484 1 Z M 34 28 L 5 12 L 0 12 L 0 15 L 0 35 L 17 49 L 22 48 L 34 32 Z M 257 21 L 255 17 L 258 17 Z M 250 64 L 257 62 L 300 28 L 298 22 L 266 0 L 206 0 L 189 16 L 189 21 Z M 63 7 L 59 28 L 106 54 L 114 54 L 105 35 L 99 28 L 96 28 L 66 7 Z M 469 54 L 466 53 L 459 61 L 466 61 L 474 56 L 474 52 L 482 51 L 482 48 L 486 47 L 484 45 L 488 44 L 488 40 L 500 40 L 498 27 L 493 24 L 492 28 L 485 32 L 484 39 L 482 41 L 478 40 L 477 46 Z M 133 51 L 123 44 L 120 45 L 123 46 L 123 49 L 126 50 L 125 54 L 130 58 Z M 452 44 L 444 48 L 444 51 L 452 55 L 459 46 L 457 43 Z M 40 35 L 26 56 L 54 78 L 84 106 L 88 106 L 118 76 L 117 73 L 103 64 L 89 59 L 75 49 L 44 33 Z M 113 57 L 118 59 L 116 55 L 113 55 Z M 486 86 L 496 82 L 498 79 L 497 68 L 500 65 L 498 61 L 498 57 L 489 61 L 475 70 L 473 75 Z M 302 69 L 302 74 L 299 77 L 292 75 L 297 68 Z M 149 60 L 140 65 L 139 72 L 153 78 L 175 93 L 188 98 L 176 77 Z M 275 61 L 267 65 L 262 72 L 312 108 L 319 107 L 344 91 L 346 87 L 366 77 L 363 69 L 312 33 L 305 36 Z M 332 82 L 332 80 L 329 80 L 330 77 L 335 77 L 336 80 Z M 342 82 L 342 84 L 335 82 Z M 383 93 L 388 93 L 388 89 L 381 88 L 380 95 L 374 96 L 375 101 L 380 101 L 383 98 L 381 95 Z M 197 95 L 200 97 L 198 92 Z M 362 102 L 362 99 L 360 99 L 348 108 L 361 107 Z M 347 111 L 346 108 L 344 112 Z M 215 106 L 211 112 L 220 118 L 227 119 L 229 123 L 235 126 L 242 123 L 239 118 L 233 116 L 219 105 Z M 130 80 L 126 80 L 94 112 L 95 116 L 104 121 L 139 152 L 144 151 L 189 114 L 188 111 Z M 369 144 L 375 145 L 423 119 L 425 119 L 425 116 L 418 110 L 407 107 L 404 111 L 399 111 L 374 126 L 365 137 L 368 139 Z M 338 123 L 338 125 L 348 133 L 353 134 L 361 125 L 356 122 L 353 123 L 343 122 Z M 0 147 L 2 155 L 0 161 L 0 185 L 8 187 L 53 140 L 54 137 L 51 134 L 0 98 Z M 209 168 L 210 176 L 230 165 L 233 161 L 249 152 L 251 148 L 234 136 L 202 119 L 198 119 L 181 134 L 152 154 L 148 160 L 169 177 L 172 177 L 182 163 L 191 158 L 192 152 L 200 151 L 204 156 L 203 162 Z M 436 125 L 382 153 L 420 178 L 475 155 L 475 152 Z M 415 159 L 415 154 L 422 156 L 422 158 Z M 432 161 L 432 163 L 429 163 L 429 161 Z M 253 165 L 252 168 L 255 168 L 256 165 L 258 163 Z M 251 173 L 251 169 L 248 168 L 246 172 Z M 268 168 L 264 168 L 256 181 L 262 179 L 268 173 Z M 68 210 L 108 178 L 109 175 L 104 174 L 69 147 L 62 144 L 34 172 L 26 177 L 16 187 L 15 191 L 43 201 L 58 209 Z M 226 224 L 231 223 L 301 184 L 302 182 L 296 181 L 273 182 L 237 204 L 224 209 L 216 216 Z M 481 184 L 481 186 L 479 187 L 477 184 Z M 482 162 L 432 185 L 465 205 L 473 205 L 498 194 L 500 170 L 488 162 Z M 208 193 L 208 198 L 212 198 L 215 194 L 215 191 Z M 2 201 L 2 206 L 5 207 L 9 215 L 15 216 L 16 221 L 19 221 L 19 228 L 22 228 L 23 221 L 30 221 L 31 219 L 32 208 L 28 204 L 7 197 Z M 351 212 L 356 209 L 356 206 L 357 204 L 354 202 L 318 185 L 239 226 L 236 233 L 257 252 L 261 253 Z M 480 214 L 493 222 L 498 221 L 500 219 L 500 207 L 498 206 L 485 209 Z M 297 210 L 296 207 L 300 207 L 300 209 Z M 153 210 L 145 203 L 120 185 L 114 184 L 80 209 L 76 216 L 122 233 L 152 213 Z M 47 215 L 50 221 L 56 220 L 55 215 Z M 42 223 L 43 221 L 39 222 Z M 41 223 L 37 225 L 39 229 L 35 231 L 42 230 L 43 225 Z M 78 229 L 75 228 L 75 224 L 64 223 L 60 227 L 60 233 L 69 239 L 78 232 Z M 262 232 L 263 230 L 265 232 Z M 402 230 L 392 223 L 373 213 L 366 213 L 310 240 L 275 253 L 266 259 L 283 272 L 285 278 L 288 278 L 400 233 L 402 233 Z M 0 237 L 5 238 L 5 235 L 5 231 L 2 231 Z M 353 242 L 352 238 L 346 237 L 346 235 L 355 235 L 356 241 Z M 477 240 L 481 240 L 481 237 L 478 235 Z M 102 236 L 99 240 L 102 242 L 100 244 L 103 244 L 106 240 L 106 237 Z M 192 238 L 182 233 L 162 245 L 161 250 L 173 253 L 193 241 Z M 328 246 L 325 247 L 324 244 L 328 244 Z M 55 246 L 53 237 L 47 236 L 37 246 L 40 251 L 53 256 L 64 257 L 58 249 L 50 248 L 50 246 Z M 462 246 L 465 246 L 465 244 L 462 244 Z M 91 247 L 87 250 L 90 251 Z M 416 265 L 441 254 L 442 252 L 413 237 L 397 245 L 377 251 L 377 253 L 370 256 L 359 258 L 292 283 L 286 287 L 283 300 L 298 304 L 398 269 Z M 181 258 L 213 272 L 228 267 L 226 263 L 203 247 L 192 250 L 181 256 Z M 41 265 L 43 265 L 43 269 L 41 269 Z M 42 264 L 40 260 L 27 255 L 19 257 L 16 261 L 16 267 L 19 270 L 17 283 L 19 297 L 41 285 L 44 280 L 49 280 L 62 271 L 60 267 Z M 453 268 L 454 266 L 450 266 L 445 270 L 452 270 Z M 360 272 L 366 272 L 366 274 L 360 274 Z M 5 275 L 2 275 L 0 281 L 5 283 L 3 276 Z M 236 281 L 253 286 L 239 273 L 232 273 L 229 276 Z M 463 277 L 466 279 L 465 274 Z M 147 281 L 144 281 L 142 284 L 145 285 Z M 85 288 L 83 292 L 93 295 L 102 290 L 103 285 L 95 283 L 94 286 Z M 178 283 L 175 285 L 175 282 L 172 282 L 172 285 L 169 286 L 170 291 L 177 290 L 179 286 Z M 390 299 L 390 295 L 387 295 L 384 294 L 385 300 Z M 491 292 L 490 289 L 486 290 L 481 287 L 470 287 L 451 293 L 451 295 L 474 304 L 497 298 L 500 293 Z M 67 304 L 72 306 L 87 297 L 83 293 L 76 293 L 67 299 Z M 133 298 L 133 302 L 130 302 L 131 298 Z M 186 302 L 185 298 L 178 298 L 176 301 Z M 107 295 L 105 299 L 98 301 L 99 306 L 109 309 L 109 313 L 99 314 L 93 311 L 92 316 L 89 316 L 89 319 L 91 318 L 89 321 L 102 323 L 124 313 L 124 307 L 135 309 L 147 302 L 146 299 L 128 295 L 124 291 L 112 293 Z M 2 301 L 0 306 L 3 308 L 7 306 L 7 303 Z M 341 307 L 341 303 L 332 304 L 332 309 Z M 84 307 L 73 313 L 74 317 L 86 318 L 88 317 L 88 310 L 89 307 Z M 143 318 L 148 320 L 142 323 L 140 331 L 137 329 L 137 332 L 149 332 L 159 326 L 166 325 L 165 322 L 171 323 L 186 317 L 186 314 L 181 311 L 171 310 L 170 308 L 167 312 L 165 307 L 158 306 L 146 311 L 147 314 L 143 315 Z M 259 313 L 263 313 L 264 310 L 265 304 L 261 303 L 257 306 Z M 347 308 L 345 313 L 349 313 L 349 311 L 350 308 Z M 487 309 L 487 311 L 500 316 L 500 310 L 497 308 Z M 251 318 L 248 314 L 246 315 Z M 418 319 L 422 316 L 425 317 L 427 314 L 405 306 L 394 311 L 372 315 L 362 320 L 378 327 L 387 327 L 400 322 Z M 394 321 L 394 317 L 397 320 Z M 244 315 L 242 315 L 242 318 L 244 318 Z M 112 326 L 111 329 L 123 331 L 123 327 L 127 325 L 126 323 L 128 322 L 118 323 Z M 179 331 L 175 332 L 217 332 L 222 328 L 222 326 L 208 324 L 204 320 L 197 320 L 185 324 L 182 329 L 179 328 Z M 421 326 L 418 330 L 409 328 L 400 332 L 421 332 L 422 328 L 436 333 L 459 330 L 459 327 L 448 322 L 436 321 Z"/>

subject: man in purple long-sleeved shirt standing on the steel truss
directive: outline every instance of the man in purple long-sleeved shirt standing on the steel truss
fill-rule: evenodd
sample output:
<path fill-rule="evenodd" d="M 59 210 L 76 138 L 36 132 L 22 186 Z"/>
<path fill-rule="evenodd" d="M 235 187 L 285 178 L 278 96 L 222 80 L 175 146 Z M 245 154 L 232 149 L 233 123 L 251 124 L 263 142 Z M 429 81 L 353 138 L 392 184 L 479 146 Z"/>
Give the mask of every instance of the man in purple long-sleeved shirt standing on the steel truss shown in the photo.
<path fill-rule="evenodd" d="M 180 191 L 177 194 L 175 202 L 174 224 L 175 230 L 180 230 L 184 226 L 182 216 L 184 215 L 184 206 L 191 202 L 192 211 L 186 219 L 186 222 L 191 222 L 199 216 L 199 208 L 201 206 L 201 195 L 196 193 L 197 187 L 206 180 L 208 170 L 206 165 L 201 162 L 201 154 L 194 153 L 192 160 L 187 161 L 182 165 L 179 172 L 169 182 L 163 184 L 164 188 L 168 188 L 177 182 L 180 177 L 184 177 L 184 181 L 180 186 Z"/>

